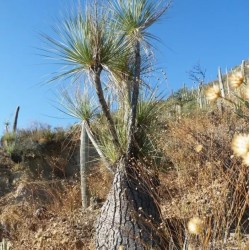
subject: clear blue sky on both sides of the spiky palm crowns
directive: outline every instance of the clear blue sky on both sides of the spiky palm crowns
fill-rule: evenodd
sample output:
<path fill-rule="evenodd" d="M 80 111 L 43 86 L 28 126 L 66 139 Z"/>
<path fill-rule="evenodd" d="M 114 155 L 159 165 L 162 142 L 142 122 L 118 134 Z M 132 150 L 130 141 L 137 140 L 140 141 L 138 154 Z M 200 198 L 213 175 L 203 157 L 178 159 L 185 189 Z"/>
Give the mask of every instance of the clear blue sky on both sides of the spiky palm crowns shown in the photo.
<path fill-rule="evenodd" d="M 66 126 L 73 121 L 56 110 L 52 101 L 59 84 L 43 84 L 57 68 L 38 55 L 44 48 L 39 33 L 51 34 L 56 18 L 73 0 L 0 1 L 0 134 L 13 122 L 20 105 L 18 127 L 35 122 Z M 188 71 L 198 62 L 206 80 L 248 59 L 247 0 L 175 0 L 151 32 L 161 39 L 155 46 L 157 67 L 168 76 L 166 92 L 183 83 L 191 86 Z M 61 117 L 63 119 L 57 119 Z"/>

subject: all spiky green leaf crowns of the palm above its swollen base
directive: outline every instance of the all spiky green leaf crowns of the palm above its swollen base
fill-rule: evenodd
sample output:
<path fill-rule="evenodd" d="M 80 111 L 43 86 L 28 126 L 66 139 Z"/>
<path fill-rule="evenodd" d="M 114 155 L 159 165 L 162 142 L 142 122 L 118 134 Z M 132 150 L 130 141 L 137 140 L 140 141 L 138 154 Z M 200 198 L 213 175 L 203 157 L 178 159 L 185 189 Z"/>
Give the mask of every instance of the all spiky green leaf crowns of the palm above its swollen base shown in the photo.
<path fill-rule="evenodd" d="M 85 11 L 79 8 L 77 13 L 66 16 L 54 28 L 54 37 L 43 35 L 49 45 L 46 56 L 63 65 L 49 82 L 86 79 L 83 90 L 61 91 L 59 109 L 87 121 L 89 134 L 95 138 L 92 142 L 110 162 L 126 152 L 133 105 L 138 105 L 132 135 L 136 151 L 145 154 L 154 150 L 150 134 L 160 110 L 155 93 L 151 91 L 146 99 L 141 95 L 134 104 L 131 99 L 135 84 L 139 83 L 140 91 L 147 88 L 143 77 L 152 70 L 151 40 L 155 37 L 148 28 L 162 17 L 170 3 L 110 0 L 101 5 L 94 1 Z"/>

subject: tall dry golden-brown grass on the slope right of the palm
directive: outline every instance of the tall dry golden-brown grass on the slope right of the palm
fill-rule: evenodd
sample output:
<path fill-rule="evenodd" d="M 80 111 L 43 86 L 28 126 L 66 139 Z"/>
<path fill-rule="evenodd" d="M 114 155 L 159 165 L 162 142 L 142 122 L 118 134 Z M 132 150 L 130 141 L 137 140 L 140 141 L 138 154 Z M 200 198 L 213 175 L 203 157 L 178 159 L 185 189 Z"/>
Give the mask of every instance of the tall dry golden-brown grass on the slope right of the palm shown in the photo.
<path fill-rule="evenodd" d="M 170 121 L 166 127 L 160 144 L 175 168 L 161 175 L 164 217 L 200 218 L 202 233 L 194 237 L 186 232 L 196 247 L 242 249 L 248 234 L 248 166 L 233 155 L 231 141 L 248 124 L 216 111 Z"/>

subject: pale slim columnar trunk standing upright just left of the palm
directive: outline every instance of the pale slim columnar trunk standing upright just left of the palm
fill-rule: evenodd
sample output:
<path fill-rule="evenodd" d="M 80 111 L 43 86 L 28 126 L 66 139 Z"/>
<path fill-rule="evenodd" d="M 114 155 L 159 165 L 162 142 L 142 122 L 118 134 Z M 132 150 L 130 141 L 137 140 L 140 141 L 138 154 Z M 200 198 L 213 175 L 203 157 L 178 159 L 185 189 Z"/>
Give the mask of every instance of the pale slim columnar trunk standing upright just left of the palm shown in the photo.
<path fill-rule="evenodd" d="M 87 133 L 85 129 L 85 121 L 81 124 L 81 140 L 80 140 L 80 176 L 81 176 L 81 197 L 82 208 L 88 207 L 87 193 Z"/>

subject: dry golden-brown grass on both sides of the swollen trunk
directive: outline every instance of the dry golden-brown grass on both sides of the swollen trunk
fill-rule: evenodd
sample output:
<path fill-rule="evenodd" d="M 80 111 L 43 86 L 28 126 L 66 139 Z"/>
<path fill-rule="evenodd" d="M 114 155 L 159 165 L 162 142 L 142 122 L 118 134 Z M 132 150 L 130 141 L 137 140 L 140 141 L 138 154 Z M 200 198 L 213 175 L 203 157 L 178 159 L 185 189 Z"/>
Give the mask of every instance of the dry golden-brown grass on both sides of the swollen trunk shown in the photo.
<path fill-rule="evenodd" d="M 158 146 L 172 164 L 159 173 L 158 190 L 167 237 L 178 243 L 178 249 L 184 244 L 190 249 L 247 249 L 249 171 L 231 145 L 235 134 L 248 133 L 248 121 L 226 109 L 223 115 L 214 110 L 168 120 L 164 128 Z M 33 139 L 47 143 L 49 133 L 46 142 L 41 133 L 33 134 Z M 44 157 L 51 171 L 65 168 L 63 156 Z M 9 165 L 7 158 L 4 162 Z M 24 197 L 17 199 L 20 184 Z M 111 184 L 112 176 L 102 165 L 91 168 L 88 187 L 95 201 L 106 199 Z M 13 249 L 94 249 L 99 210 L 97 206 L 81 211 L 78 177 L 26 178 L 15 185 L 13 192 L 0 198 L 0 240 L 10 239 Z M 188 232 L 193 217 L 200 223 L 198 231 L 194 229 L 197 235 Z"/>

